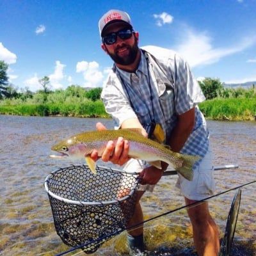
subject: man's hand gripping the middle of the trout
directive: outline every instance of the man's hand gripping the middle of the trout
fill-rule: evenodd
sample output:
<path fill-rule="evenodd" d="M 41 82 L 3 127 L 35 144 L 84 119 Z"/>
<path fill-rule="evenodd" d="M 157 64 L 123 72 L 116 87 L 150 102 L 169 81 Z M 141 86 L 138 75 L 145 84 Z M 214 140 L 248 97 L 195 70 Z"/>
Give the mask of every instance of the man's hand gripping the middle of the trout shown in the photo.
<path fill-rule="evenodd" d="M 101 123 L 97 123 L 96 129 L 98 131 L 104 131 L 106 130 L 106 127 Z M 108 141 L 108 144 L 102 153 L 101 159 L 104 162 L 111 161 L 113 164 L 123 165 L 129 160 L 128 152 L 129 142 L 124 140 L 124 138 L 119 137 L 116 141 L 116 145 L 114 141 Z M 99 159 L 97 150 L 92 152 L 91 157 L 94 161 Z"/>

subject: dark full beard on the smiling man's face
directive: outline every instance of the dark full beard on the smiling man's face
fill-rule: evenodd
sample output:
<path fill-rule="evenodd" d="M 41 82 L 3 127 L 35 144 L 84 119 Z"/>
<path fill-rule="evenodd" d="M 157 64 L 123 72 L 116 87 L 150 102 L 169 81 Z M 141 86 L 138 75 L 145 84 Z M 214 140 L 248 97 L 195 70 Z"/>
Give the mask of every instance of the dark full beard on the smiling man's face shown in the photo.
<path fill-rule="evenodd" d="M 139 51 L 139 47 L 138 47 L 137 42 L 138 41 L 135 40 L 135 42 L 132 46 L 127 45 L 127 44 L 122 44 L 122 45 L 120 45 L 120 47 L 117 47 L 115 49 L 115 53 L 111 53 L 111 52 L 108 51 L 108 54 L 111 57 L 111 59 L 117 64 L 124 65 L 124 66 L 131 65 L 132 63 L 134 63 L 134 61 L 136 59 L 136 56 L 138 54 L 138 51 Z M 127 54 L 127 56 L 124 56 L 124 57 L 118 56 L 118 50 L 123 48 L 123 47 L 126 47 L 128 49 L 129 54 Z"/>

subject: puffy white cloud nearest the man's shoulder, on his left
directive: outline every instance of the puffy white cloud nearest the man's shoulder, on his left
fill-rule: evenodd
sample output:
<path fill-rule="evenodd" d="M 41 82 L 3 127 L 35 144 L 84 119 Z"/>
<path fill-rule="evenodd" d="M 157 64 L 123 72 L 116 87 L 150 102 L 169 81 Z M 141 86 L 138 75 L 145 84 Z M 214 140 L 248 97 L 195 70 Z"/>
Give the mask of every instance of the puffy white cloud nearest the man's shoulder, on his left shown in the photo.
<path fill-rule="evenodd" d="M 83 73 L 85 87 L 102 86 L 103 74 L 99 70 L 99 64 L 96 61 L 79 61 L 76 65 L 76 72 Z"/>

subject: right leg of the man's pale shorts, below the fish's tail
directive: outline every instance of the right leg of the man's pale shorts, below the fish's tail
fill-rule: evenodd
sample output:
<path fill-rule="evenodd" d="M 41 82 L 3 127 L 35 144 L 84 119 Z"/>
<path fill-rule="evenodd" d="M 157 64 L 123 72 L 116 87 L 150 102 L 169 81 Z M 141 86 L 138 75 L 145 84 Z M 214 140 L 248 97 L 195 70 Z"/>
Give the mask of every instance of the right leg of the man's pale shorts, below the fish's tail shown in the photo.
<path fill-rule="evenodd" d="M 200 161 L 196 170 L 194 170 L 193 180 L 189 181 L 179 175 L 176 187 L 180 189 L 180 193 L 190 200 L 202 200 L 213 195 L 215 190 L 215 182 L 212 177 L 212 151 L 209 150 L 205 157 Z"/>

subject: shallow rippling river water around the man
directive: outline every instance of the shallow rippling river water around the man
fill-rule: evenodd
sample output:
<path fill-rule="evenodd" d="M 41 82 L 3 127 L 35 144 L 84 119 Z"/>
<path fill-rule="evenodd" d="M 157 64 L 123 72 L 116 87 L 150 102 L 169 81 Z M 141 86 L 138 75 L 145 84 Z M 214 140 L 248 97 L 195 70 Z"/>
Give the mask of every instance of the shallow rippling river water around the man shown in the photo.
<path fill-rule="evenodd" d="M 55 255 L 68 250 L 55 232 L 44 189 L 45 177 L 70 161 L 49 158 L 51 145 L 77 132 L 95 129 L 110 119 L 0 115 L 0 255 Z M 238 164 L 238 169 L 214 172 L 216 193 L 256 180 L 256 123 L 208 122 L 214 165 Z M 99 163 L 104 165 L 104 163 Z M 184 205 L 175 189 L 177 177 L 163 177 L 154 193 L 142 199 L 144 218 Z M 209 200 L 211 214 L 223 237 L 236 191 Z M 256 255 L 255 184 L 242 189 L 232 255 Z M 148 255 L 195 255 L 186 210 L 145 224 Z M 77 253 L 77 252 L 76 252 Z M 84 253 L 83 253 L 84 254 Z M 125 234 L 105 243 L 93 255 L 127 255 Z"/>

